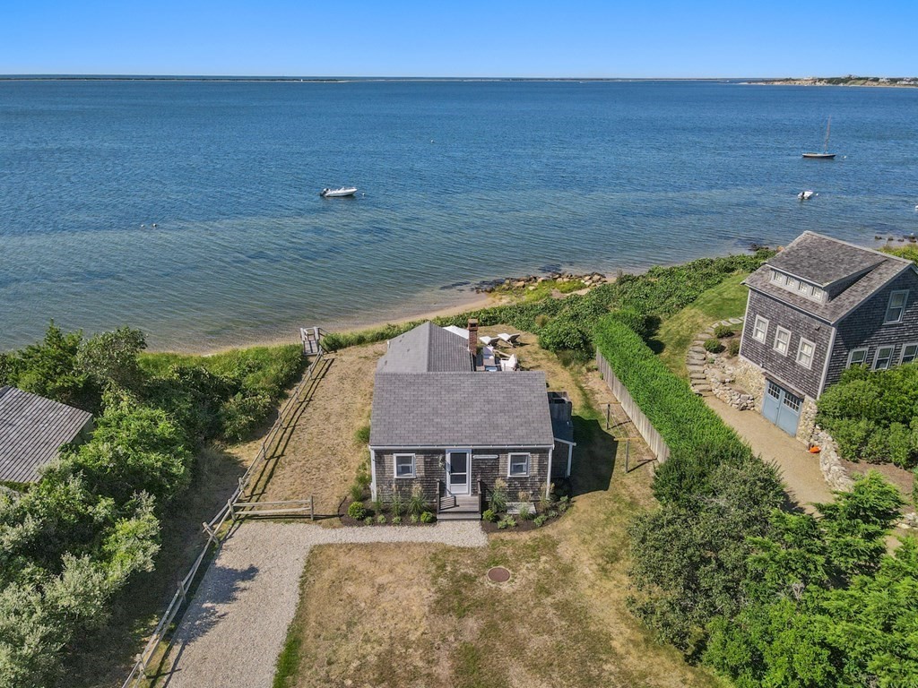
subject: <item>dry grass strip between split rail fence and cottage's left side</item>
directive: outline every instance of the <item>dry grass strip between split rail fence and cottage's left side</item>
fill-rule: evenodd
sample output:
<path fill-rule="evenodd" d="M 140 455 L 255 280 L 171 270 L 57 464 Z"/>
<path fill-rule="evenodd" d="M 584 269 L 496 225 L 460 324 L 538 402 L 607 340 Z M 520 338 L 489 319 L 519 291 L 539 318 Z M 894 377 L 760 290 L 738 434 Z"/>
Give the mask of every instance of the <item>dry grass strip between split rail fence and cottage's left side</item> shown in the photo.
<path fill-rule="evenodd" d="M 373 375 L 386 342 L 328 354 L 308 403 L 274 454 L 260 499 L 315 497 L 317 514 L 336 514 L 357 467 L 367 458 L 357 431 L 370 423 Z"/>

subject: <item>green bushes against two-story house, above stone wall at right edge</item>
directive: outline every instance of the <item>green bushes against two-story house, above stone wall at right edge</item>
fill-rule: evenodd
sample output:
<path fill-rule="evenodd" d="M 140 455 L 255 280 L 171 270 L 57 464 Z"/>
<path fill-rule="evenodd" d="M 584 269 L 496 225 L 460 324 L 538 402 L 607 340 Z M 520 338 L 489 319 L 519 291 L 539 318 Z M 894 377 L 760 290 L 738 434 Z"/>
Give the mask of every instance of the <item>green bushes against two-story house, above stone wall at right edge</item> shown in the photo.
<path fill-rule="evenodd" d="M 871 372 L 854 366 L 817 403 L 817 421 L 850 461 L 918 463 L 918 363 Z"/>

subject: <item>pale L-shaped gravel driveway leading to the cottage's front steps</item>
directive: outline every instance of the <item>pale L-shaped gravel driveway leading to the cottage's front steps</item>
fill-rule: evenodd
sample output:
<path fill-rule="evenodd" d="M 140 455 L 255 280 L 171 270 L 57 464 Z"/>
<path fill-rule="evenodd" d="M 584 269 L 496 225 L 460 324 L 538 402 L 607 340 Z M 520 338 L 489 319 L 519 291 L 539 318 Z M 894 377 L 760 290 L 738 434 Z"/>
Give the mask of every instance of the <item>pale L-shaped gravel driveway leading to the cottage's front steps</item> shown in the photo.
<path fill-rule="evenodd" d="M 438 542 L 484 547 L 476 521 L 432 527 L 341 527 L 250 521 L 223 544 L 175 633 L 162 685 L 271 688 L 313 545 Z"/>

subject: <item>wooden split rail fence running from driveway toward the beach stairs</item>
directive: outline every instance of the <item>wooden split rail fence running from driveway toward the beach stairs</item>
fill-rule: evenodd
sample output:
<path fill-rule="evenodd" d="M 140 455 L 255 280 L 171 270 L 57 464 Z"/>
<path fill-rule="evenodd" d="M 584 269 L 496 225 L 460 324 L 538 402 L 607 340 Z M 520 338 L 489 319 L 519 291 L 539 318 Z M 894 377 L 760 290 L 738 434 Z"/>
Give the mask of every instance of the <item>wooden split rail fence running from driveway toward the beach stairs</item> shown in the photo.
<path fill-rule="evenodd" d="M 178 583 L 178 589 L 175 591 L 169 606 L 166 607 L 166 611 L 153 630 L 150 639 L 144 646 L 143 651 L 140 652 L 140 657 L 134 663 L 127 681 L 122 684 L 122 688 L 139 688 L 143 684 L 142 682 L 149 678 L 147 669 L 151 665 L 151 661 L 158 656 L 162 643 L 170 635 L 176 617 L 184 610 L 188 594 L 196 583 L 197 574 L 201 570 L 204 561 L 207 560 L 207 554 L 210 552 L 211 546 L 214 549 L 218 549 L 226 538 L 228 522 L 232 524 L 241 518 L 250 516 L 308 516 L 315 519 L 315 505 L 312 496 L 308 499 L 288 502 L 258 502 L 252 501 L 252 494 L 246 494 L 246 491 L 252 487 L 254 476 L 260 474 L 265 464 L 271 461 L 272 448 L 288 428 L 288 421 L 293 416 L 297 406 L 303 401 L 304 391 L 317 382 L 317 371 L 325 355 L 319 344 L 319 336 L 323 336 L 324 332 L 319 330 L 318 327 L 310 329 L 314 329 L 317 338 L 316 348 L 313 351 L 315 358 L 309 363 L 303 379 L 297 384 L 297 387 L 287 398 L 284 405 L 281 406 L 277 419 L 274 421 L 274 426 L 271 427 L 271 431 L 263 439 L 254 461 L 239 479 L 239 486 L 229 497 L 227 503 L 217 512 L 217 516 L 211 518 L 209 522 L 201 524 L 204 534 L 207 536 L 207 541 L 204 543 L 201 553 L 197 555 L 195 563 L 192 564 L 191 570 Z"/>

